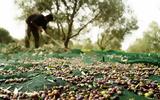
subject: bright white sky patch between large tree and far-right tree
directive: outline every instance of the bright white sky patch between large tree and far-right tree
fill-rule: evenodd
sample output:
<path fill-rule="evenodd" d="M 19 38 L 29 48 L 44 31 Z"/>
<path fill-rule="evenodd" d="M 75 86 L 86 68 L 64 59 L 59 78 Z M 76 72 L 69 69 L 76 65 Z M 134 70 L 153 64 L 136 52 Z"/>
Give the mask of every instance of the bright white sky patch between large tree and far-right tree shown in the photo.
<path fill-rule="evenodd" d="M 139 29 L 126 36 L 122 43 L 122 49 L 126 50 L 137 38 L 143 37 L 152 21 L 160 24 L 160 0 L 127 0 L 129 6 L 134 10 L 138 20 Z"/>

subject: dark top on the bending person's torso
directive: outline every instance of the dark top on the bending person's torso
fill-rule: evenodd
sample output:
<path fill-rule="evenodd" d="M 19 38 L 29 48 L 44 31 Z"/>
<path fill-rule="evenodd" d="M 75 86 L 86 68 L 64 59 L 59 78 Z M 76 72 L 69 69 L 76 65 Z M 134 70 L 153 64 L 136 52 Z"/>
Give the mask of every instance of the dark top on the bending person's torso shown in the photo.
<path fill-rule="evenodd" d="M 41 26 L 44 30 L 46 30 L 48 22 L 45 20 L 45 16 L 42 14 L 33 14 L 26 19 L 26 23 L 30 27 L 35 28 L 34 24 L 36 24 L 37 26 Z"/>

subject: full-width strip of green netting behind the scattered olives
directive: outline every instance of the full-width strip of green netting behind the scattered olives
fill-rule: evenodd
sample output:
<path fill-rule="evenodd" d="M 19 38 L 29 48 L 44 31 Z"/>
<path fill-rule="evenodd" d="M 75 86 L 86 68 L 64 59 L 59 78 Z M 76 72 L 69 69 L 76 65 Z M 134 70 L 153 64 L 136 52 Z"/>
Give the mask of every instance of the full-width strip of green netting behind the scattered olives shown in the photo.
<path fill-rule="evenodd" d="M 80 49 L 73 49 L 65 53 L 32 53 L 20 52 L 15 54 L 0 54 L 0 63 L 5 62 L 20 62 L 24 59 L 43 60 L 46 58 L 72 58 L 81 57 L 86 62 L 103 61 L 103 62 L 120 62 L 120 63 L 145 63 L 160 65 L 160 53 L 126 53 L 122 51 L 89 51 L 83 52 Z"/>

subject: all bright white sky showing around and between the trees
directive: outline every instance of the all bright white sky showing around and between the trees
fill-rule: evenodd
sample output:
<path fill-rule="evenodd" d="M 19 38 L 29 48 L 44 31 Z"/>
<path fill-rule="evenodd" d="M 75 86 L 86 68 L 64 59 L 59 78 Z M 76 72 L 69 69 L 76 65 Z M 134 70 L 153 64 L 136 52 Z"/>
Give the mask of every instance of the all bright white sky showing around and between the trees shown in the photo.
<path fill-rule="evenodd" d="M 126 50 L 137 38 L 143 36 L 152 21 L 160 24 L 160 0 L 126 0 L 138 19 L 139 29 L 133 31 L 131 35 L 125 37 L 122 49 Z M 0 0 L 0 27 L 8 30 L 14 38 L 22 39 L 25 36 L 24 21 L 16 20 L 19 10 L 14 4 L 14 0 Z M 99 29 L 94 28 L 89 34 L 94 41 Z"/>

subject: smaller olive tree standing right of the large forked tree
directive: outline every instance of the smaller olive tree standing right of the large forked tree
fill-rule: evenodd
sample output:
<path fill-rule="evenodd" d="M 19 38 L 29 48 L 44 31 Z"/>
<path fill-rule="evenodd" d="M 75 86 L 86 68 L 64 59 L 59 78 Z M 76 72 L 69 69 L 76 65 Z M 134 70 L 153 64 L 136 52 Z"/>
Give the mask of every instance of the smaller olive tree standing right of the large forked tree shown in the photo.
<path fill-rule="evenodd" d="M 137 20 L 131 13 L 130 17 L 124 14 L 115 22 L 111 21 L 110 23 L 112 26 L 106 26 L 107 28 L 105 32 L 101 33 L 97 44 L 101 50 L 120 50 L 125 35 L 131 34 L 132 30 L 138 28 Z"/>

